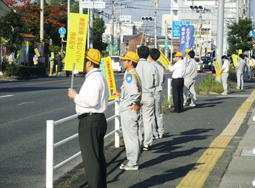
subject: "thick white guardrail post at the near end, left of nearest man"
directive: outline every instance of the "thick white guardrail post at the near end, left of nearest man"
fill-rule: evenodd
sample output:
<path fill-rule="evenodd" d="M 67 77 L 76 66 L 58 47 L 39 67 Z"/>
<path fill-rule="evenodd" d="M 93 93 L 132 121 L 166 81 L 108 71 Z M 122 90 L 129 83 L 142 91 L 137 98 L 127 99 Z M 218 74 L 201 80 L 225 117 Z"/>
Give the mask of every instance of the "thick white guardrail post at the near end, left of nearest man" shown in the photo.
<path fill-rule="evenodd" d="M 48 120 L 46 127 L 46 188 L 53 188 L 54 121 Z"/>

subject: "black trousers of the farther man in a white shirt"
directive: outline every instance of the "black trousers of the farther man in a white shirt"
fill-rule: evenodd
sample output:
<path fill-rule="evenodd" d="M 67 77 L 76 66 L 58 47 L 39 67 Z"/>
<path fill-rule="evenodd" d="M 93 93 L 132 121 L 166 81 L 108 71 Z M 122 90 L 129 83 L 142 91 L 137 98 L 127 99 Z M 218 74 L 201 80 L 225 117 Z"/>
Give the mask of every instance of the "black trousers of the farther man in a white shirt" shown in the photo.
<path fill-rule="evenodd" d="M 183 112 L 183 86 L 183 78 L 173 78 L 173 101 L 176 112 Z"/>

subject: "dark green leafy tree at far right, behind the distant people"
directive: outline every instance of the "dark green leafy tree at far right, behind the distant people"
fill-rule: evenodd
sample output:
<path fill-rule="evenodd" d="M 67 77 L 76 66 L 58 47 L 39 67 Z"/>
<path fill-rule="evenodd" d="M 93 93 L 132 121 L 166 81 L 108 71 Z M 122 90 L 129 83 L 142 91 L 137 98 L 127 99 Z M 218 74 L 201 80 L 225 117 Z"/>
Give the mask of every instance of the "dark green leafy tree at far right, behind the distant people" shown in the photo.
<path fill-rule="evenodd" d="M 238 53 L 239 49 L 243 52 L 252 49 L 253 37 L 250 32 L 253 29 L 251 19 L 239 19 L 239 22 L 231 22 L 228 26 L 228 44 L 230 54 Z"/>

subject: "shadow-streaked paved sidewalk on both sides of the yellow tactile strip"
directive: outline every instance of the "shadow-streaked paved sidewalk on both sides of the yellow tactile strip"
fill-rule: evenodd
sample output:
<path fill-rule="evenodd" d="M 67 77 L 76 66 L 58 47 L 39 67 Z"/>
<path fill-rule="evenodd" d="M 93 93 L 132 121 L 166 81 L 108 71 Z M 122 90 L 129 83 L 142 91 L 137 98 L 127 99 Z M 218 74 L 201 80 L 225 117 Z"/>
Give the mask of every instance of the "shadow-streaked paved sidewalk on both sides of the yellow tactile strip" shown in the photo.
<path fill-rule="evenodd" d="M 107 147 L 107 186 L 109 188 L 174 188 L 193 170 L 198 159 L 234 117 L 236 111 L 255 89 L 255 81 L 245 83 L 245 90 L 234 90 L 228 96 L 198 95 L 195 108 L 184 113 L 165 114 L 165 135 L 154 140 L 149 151 L 143 151 L 138 171 L 122 171 L 126 162 L 125 148 Z M 217 161 L 205 188 L 249 188 L 255 176 L 255 105 L 251 108 L 236 135 Z M 82 164 L 54 182 L 54 187 L 87 188 Z M 198 186 L 199 187 L 199 186 Z"/>

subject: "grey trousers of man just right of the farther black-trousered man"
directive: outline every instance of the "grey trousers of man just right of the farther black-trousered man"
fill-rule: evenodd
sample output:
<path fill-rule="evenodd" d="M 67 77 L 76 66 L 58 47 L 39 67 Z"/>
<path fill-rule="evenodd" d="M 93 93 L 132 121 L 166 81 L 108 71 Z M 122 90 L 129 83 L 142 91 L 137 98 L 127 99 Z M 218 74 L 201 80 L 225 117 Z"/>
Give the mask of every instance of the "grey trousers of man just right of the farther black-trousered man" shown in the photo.
<path fill-rule="evenodd" d="M 184 86 L 183 86 L 183 105 L 186 104 L 187 99 L 188 99 L 188 91 L 190 92 L 190 98 L 191 98 L 191 103 L 196 105 L 196 91 L 195 91 L 195 83 L 196 81 L 191 78 L 184 78 Z"/>

